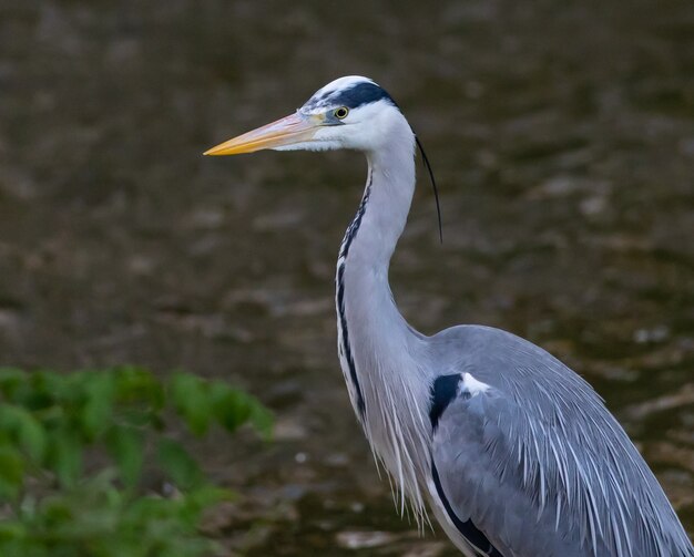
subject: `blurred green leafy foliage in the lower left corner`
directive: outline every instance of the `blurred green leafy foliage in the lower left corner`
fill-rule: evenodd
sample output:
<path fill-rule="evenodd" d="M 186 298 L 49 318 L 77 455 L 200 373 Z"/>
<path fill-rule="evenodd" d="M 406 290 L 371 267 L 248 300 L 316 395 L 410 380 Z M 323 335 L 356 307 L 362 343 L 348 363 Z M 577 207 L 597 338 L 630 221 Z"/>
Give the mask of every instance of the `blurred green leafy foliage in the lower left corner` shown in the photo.
<path fill-rule="evenodd" d="M 272 427 L 253 396 L 188 373 L 0 368 L 0 555 L 208 555 L 202 515 L 231 494 L 171 433 L 173 417 L 195 436 L 248 423 L 269 439 Z M 145 493 L 147 477 L 174 495 Z"/>

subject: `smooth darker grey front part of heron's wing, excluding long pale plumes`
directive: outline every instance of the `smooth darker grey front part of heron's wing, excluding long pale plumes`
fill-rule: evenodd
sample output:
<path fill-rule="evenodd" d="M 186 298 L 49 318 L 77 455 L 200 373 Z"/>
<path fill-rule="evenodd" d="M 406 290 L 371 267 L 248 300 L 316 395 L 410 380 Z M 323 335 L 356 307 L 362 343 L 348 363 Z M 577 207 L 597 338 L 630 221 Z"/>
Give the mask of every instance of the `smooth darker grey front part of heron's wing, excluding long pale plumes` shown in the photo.
<path fill-rule="evenodd" d="M 460 393 L 433 436 L 432 477 L 441 503 L 480 555 L 592 555 L 576 549 L 579 528 L 564 528 L 557 507 L 545 501 L 540 510 L 543 478 L 528 454 L 540 447 L 521 441 L 521 430 L 530 427 L 521 409 L 496 389 Z"/>

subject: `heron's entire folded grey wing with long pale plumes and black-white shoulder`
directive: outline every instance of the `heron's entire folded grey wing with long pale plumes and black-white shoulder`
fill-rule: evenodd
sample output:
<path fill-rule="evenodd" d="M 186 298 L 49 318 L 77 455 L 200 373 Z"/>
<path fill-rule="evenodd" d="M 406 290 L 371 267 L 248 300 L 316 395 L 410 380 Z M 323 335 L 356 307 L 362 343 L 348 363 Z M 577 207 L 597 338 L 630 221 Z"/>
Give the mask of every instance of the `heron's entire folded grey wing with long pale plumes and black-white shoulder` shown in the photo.
<path fill-rule="evenodd" d="M 660 485 L 604 408 L 598 416 L 576 406 L 549 417 L 471 373 L 438 378 L 435 388 L 450 386 L 450 378 L 455 393 L 432 408 L 432 477 L 445 513 L 480 555 L 693 555 Z"/>

